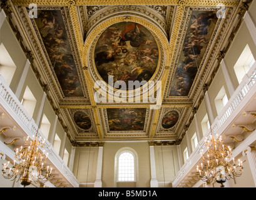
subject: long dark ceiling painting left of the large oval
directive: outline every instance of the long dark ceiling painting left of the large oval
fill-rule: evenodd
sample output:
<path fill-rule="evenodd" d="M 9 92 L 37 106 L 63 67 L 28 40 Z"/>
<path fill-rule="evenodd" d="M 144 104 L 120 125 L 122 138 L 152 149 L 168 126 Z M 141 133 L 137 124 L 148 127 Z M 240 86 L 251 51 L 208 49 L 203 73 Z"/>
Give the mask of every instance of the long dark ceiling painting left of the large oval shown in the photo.
<path fill-rule="evenodd" d="M 61 10 L 39 10 L 35 21 L 64 96 L 83 96 Z"/>

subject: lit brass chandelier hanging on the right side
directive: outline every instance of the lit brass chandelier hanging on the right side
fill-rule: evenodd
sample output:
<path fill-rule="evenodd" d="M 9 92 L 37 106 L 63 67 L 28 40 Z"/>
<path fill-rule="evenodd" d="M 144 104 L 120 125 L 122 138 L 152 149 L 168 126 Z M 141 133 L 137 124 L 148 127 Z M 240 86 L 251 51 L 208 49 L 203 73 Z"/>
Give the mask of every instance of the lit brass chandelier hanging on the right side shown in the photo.
<path fill-rule="evenodd" d="M 215 179 L 220 183 L 220 187 L 224 187 L 223 183 L 230 178 L 239 177 L 243 173 L 243 162 L 238 159 L 238 165 L 230 164 L 228 160 L 232 158 L 232 149 L 223 144 L 222 136 L 217 136 L 215 139 L 210 134 L 210 138 L 205 139 L 205 146 L 207 146 L 207 156 L 203 155 L 203 149 L 200 152 L 202 163 L 197 166 L 197 175 L 202 181 L 209 183 Z"/>

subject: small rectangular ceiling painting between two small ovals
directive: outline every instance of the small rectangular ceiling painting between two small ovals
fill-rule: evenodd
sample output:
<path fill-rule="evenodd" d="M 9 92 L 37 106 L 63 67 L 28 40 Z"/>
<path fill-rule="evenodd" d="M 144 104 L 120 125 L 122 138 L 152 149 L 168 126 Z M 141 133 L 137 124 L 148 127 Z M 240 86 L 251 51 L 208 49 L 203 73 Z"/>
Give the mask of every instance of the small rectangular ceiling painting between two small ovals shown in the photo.
<path fill-rule="evenodd" d="M 110 131 L 143 131 L 146 108 L 107 108 Z"/>

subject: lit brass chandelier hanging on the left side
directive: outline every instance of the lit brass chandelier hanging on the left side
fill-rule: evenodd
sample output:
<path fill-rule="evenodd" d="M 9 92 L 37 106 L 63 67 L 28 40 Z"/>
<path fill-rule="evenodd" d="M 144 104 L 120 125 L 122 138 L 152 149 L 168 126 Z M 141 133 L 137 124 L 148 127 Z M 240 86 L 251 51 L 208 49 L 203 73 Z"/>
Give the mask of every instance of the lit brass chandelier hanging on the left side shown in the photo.
<path fill-rule="evenodd" d="M 48 160 L 48 153 L 44 154 L 39 151 L 43 148 L 44 140 L 36 135 L 34 140 L 26 139 L 25 146 L 15 150 L 15 159 L 13 166 L 9 167 L 8 163 L 3 164 L 2 174 L 5 179 L 14 181 L 19 179 L 21 185 L 28 186 L 34 180 L 35 183 L 46 183 L 51 179 L 52 168 L 44 166 Z"/>

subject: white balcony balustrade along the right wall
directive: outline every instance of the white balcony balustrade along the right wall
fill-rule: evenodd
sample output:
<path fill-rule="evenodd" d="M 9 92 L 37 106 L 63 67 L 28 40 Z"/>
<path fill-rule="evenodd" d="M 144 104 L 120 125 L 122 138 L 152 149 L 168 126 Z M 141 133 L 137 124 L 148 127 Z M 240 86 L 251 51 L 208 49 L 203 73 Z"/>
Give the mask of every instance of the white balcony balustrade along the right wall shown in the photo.
<path fill-rule="evenodd" d="M 250 68 L 247 74 L 242 79 L 242 82 L 235 90 L 235 93 L 230 97 L 228 103 L 222 109 L 221 113 L 215 118 L 212 123 L 212 134 L 215 136 L 222 135 L 225 129 L 230 126 L 232 120 L 235 116 L 241 113 L 243 106 L 245 104 L 243 102 L 247 102 L 253 98 L 256 93 L 256 62 Z M 177 176 L 172 181 L 173 187 L 177 187 L 178 184 L 181 183 L 182 179 L 185 178 L 187 173 L 195 168 L 195 165 L 200 160 L 200 151 L 205 153 L 207 148 L 205 148 L 205 138 L 210 136 L 210 130 L 208 130 L 205 137 L 198 143 L 197 148 L 190 154 L 189 158 L 183 164 L 180 171 L 178 171 Z M 234 154 L 235 153 L 235 154 Z M 238 153 L 237 151 L 233 151 L 233 156 L 236 156 Z"/>

